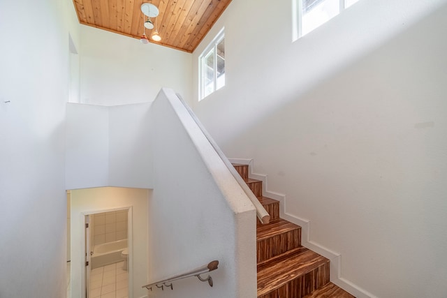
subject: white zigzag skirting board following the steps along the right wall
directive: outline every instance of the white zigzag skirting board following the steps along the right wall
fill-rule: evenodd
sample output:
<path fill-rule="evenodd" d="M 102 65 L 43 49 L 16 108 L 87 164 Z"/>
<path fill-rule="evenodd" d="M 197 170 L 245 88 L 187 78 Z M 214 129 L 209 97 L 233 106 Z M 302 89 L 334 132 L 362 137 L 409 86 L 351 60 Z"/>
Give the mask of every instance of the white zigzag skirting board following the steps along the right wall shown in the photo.
<path fill-rule="evenodd" d="M 266 174 L 256 174 L 253 172 L 253 158 L 228 158 L 231 163 L 237 163 L 240 165 L 249 165 L 249 178 L 263 181 L 263 195 L 274 200 L 278 200 L 279 203 L 279 217 L 295 223 L 295 225 L 300 225 L 302 230 L 302 246 L 309 248 L 310 250 L 323 255 L 323 257 L 330 260 L 330 281 L 335 283 L 343 290 L 351 293 L 351 295 L 357 298 L 376 298 L 376 296 L 360 288 L 358 285 L 348 281 L 346 278 L 342 277 L 342 255 L 332 251 L 321 244 L 312 241 L 310 232 L 310 221 L 305 218 L 300 218 L 295 214 L 290 214 L 287 212 L 287 202 L 286 195 L 282 193 L 277 193 L 268 190 L 268 175 Z"/>

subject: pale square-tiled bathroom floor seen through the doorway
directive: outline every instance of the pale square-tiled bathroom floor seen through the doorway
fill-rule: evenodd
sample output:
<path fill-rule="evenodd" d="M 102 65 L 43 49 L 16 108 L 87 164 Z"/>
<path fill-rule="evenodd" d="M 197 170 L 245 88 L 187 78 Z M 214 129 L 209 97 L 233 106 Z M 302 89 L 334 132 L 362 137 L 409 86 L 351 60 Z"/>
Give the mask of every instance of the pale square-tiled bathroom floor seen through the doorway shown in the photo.
<path fill-rule="evenodd" d="M 128 298 L 128 274 L 123 262 L 91 270 L 89 298 Z"/>

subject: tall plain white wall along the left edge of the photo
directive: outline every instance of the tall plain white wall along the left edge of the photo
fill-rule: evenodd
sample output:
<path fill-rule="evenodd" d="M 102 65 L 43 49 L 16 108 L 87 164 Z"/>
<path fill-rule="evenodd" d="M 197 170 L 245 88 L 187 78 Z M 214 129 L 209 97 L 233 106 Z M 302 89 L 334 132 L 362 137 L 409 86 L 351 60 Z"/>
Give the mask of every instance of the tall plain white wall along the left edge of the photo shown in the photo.
<path fill-rule="evenodd" d="M 70 5 L 0 1 L 0 297 L 66 295 Z"/>

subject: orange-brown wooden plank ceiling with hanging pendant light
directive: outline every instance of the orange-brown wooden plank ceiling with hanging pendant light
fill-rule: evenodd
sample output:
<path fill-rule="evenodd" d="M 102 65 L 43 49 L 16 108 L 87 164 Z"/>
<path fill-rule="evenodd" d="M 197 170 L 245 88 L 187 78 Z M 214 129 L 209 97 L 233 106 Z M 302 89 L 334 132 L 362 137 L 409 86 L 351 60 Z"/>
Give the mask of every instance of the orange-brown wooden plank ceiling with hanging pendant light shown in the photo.
<path fill-rule="evenodd" d="M 145 2 L 160 11 L 151 20 L 161 41 L 151 40 L 154 29 L 146 29 L 150 42 L 193 52 L 231 0 L 73 0 L 81 24 L 138 39 L 146 20 L 140 10 Z"/>

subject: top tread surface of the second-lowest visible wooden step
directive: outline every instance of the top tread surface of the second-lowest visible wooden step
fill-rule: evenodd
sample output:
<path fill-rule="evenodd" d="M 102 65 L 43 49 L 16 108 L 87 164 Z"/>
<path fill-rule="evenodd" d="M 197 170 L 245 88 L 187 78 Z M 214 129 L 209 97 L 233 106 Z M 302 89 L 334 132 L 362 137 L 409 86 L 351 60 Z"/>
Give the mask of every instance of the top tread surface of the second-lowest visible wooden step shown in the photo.
<path fill-rule="evenodd" d="M 284 254 L 258 266 L 258 297 L 280 288 L 295 278 L 304 276 L 318 267 L 327 266 L 329 260 L 308 248 L 300 247 L 293 254 Z"/>

